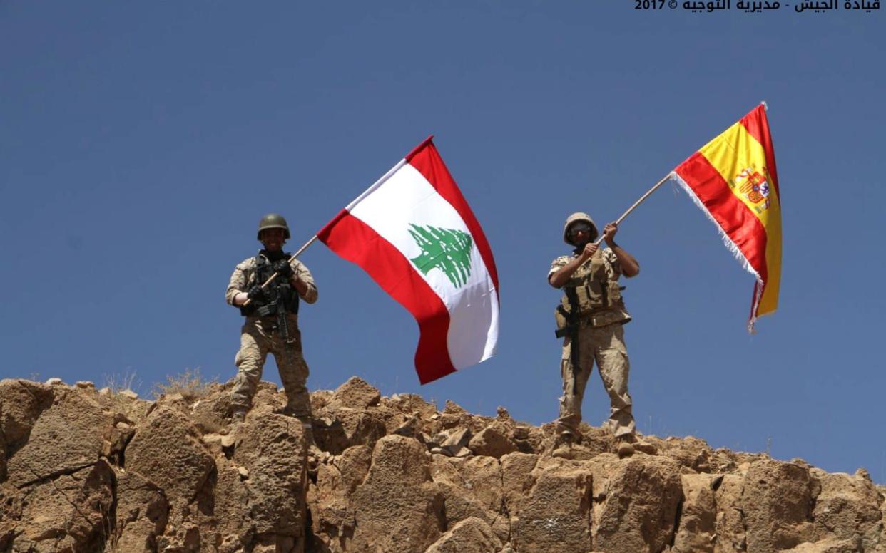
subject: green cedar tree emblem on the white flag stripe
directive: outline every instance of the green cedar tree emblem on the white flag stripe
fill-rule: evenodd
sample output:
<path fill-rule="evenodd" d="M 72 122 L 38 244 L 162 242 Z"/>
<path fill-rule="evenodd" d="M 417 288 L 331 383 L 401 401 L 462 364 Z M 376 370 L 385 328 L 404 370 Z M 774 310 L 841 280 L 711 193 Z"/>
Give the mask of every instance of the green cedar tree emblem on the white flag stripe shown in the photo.
<path fill-rule="evenodd" d="M 412 234 L 422 254 L 412 257 L 424 274 L 431 269 L 439 269 L 447 276 L 455 288 L 462 288 L 470 276 L 470 248 L 474 241 L 470 234 L 452 228 L 419 227 L 410 224 Z"/>

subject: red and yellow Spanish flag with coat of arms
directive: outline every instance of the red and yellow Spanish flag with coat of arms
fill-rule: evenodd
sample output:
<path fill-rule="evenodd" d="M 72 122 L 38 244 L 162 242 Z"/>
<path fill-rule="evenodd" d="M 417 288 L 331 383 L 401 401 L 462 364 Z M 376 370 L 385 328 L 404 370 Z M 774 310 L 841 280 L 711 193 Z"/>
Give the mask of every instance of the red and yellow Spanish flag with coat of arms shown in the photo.
<path fill-rule="evenodd" d="M 758 105 L 671 173 L 757 278 L 750 332 L 778 306 L 781 280 L 781 195 L 765 108 Z"/>

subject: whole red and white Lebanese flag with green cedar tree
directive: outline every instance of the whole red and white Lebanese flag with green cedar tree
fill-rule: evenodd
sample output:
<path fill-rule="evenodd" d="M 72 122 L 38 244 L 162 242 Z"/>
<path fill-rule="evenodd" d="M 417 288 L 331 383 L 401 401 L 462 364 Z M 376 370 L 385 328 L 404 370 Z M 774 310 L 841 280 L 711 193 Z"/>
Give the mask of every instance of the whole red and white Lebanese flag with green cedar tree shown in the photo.
<path fill-rule="evenodd" d="M 416 318 L 422 384 L 492 357 L 498 274 L 429 136 L 317 233 Z"/>

